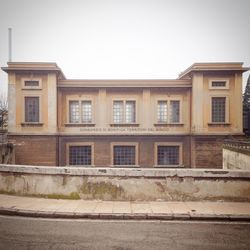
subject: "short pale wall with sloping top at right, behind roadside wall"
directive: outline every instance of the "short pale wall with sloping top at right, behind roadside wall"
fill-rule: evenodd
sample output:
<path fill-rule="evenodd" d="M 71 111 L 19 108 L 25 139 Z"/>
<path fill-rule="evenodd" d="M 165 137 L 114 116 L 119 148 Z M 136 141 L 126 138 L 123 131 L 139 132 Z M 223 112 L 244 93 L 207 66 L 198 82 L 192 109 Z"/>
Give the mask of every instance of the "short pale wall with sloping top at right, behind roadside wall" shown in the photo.
<path fill-rule="evenodd" d="M 223 169 L 250 170 L 250 154 L 223 148 Z"/>

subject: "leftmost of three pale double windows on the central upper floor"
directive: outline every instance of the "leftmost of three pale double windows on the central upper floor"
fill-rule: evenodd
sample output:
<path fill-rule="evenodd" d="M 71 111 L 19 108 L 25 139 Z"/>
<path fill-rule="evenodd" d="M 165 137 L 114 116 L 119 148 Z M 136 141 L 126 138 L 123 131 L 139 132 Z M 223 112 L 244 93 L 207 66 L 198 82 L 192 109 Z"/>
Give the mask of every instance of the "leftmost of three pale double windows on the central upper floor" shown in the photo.
<path fill-rule="evenodd" d="M 69 101 L 70 123 L 92 123 L 91 101 Z"/>

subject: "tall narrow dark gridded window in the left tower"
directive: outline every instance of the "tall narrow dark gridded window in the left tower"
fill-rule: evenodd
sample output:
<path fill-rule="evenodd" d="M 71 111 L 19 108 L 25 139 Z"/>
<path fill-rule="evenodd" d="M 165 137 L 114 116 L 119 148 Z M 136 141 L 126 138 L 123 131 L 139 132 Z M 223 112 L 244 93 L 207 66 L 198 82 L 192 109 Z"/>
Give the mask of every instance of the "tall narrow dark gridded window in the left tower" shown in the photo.
<path fill-rule="evenodd" d="M 39 122 L 39 97 L 26 96 L 25 101 L 25 122 Z"/>

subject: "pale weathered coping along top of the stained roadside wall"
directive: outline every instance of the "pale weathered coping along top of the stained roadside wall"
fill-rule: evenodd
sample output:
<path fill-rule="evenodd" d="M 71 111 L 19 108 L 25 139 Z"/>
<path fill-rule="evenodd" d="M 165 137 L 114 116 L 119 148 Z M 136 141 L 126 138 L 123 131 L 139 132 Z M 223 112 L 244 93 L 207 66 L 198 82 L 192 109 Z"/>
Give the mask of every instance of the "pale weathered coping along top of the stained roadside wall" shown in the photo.
<path fill-rule="evenodd" d="M 250 179 L 250 170 L 223 169 L 159 169 L 159 168 L 104 168 L 55 167 L 0 164 L 2 173 L 69 175 L 69 176 L 120 176 L 120 177 L 194 177 Z"/>

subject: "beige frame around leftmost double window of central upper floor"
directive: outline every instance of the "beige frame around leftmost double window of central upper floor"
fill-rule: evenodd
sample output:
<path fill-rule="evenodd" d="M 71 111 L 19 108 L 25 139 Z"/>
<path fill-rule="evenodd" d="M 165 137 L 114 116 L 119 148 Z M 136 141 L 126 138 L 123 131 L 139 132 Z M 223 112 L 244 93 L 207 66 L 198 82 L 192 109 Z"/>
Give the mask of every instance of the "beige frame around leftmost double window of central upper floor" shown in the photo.
<path fill-rule="evenodd" d="M 70 122 L 70 102 L 78 102 L 79 104 L 79 122 Z M 91 103 L 91 122 L 83 122 L 82 121 L 82 102 L 87 101 Z M 95 125 L 95 106 L 94 106 L 94 99 L 91 97 L 81 97 L 81 98 L 74 98 L 68 97 L 67 98 L 67 121 L 66 126 L 94 126 Z"/>

